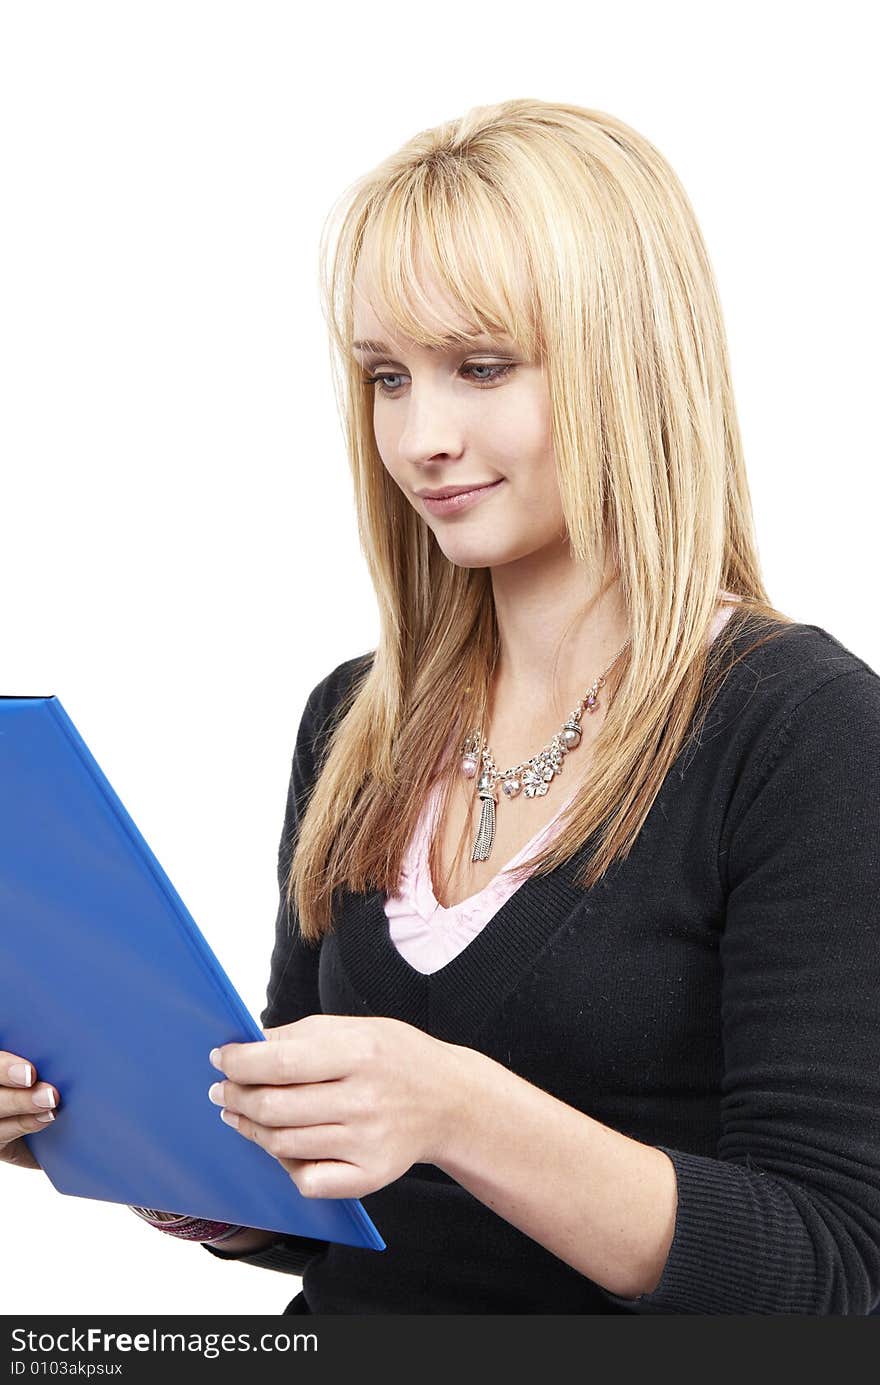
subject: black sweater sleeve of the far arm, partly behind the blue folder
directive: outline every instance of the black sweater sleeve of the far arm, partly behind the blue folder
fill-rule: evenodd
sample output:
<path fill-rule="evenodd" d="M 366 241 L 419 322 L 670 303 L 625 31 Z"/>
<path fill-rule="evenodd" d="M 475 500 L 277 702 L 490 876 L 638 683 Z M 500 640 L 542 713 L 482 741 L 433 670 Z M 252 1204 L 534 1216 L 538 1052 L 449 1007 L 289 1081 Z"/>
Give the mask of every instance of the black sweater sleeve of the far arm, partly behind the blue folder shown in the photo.
<path fill-rule="evenodd" d="M 284 825 L 279 843 L 279 907 L 274 920 L 274 946 L 269 968 L 266 1007 L 259 1017 L 263 1029 L 276 1025 L 290 1025 L 305 1015 L 320 1014 L 317 989 L 317 965 L 320 947 L 306 943 L 299 932 L 298 921 L 292 920 L 287 907 L 287 874 L 297 845 L 299 821 L 306 810 L 308 799 L 324 749 L 324 737 L 331 729 L 331 719 L 340 704 L 340 686 L 345 690 L 342 674 L 355 669 L 359 659 L 348 661 L 334 669 L 317 687 L 312 688 L 299 722 L 297 745 L 287 787 Z M 240 1260 L 261 1269 L 279 1270 L 283 1274 L 302 1274 L 309 1260 L 328 1245 L 327 1241 L 306 1235 L 280 1234 L 261 1251 L 236 1252 L 201 1242 L 209 1255 L 219 1260 Z"/>

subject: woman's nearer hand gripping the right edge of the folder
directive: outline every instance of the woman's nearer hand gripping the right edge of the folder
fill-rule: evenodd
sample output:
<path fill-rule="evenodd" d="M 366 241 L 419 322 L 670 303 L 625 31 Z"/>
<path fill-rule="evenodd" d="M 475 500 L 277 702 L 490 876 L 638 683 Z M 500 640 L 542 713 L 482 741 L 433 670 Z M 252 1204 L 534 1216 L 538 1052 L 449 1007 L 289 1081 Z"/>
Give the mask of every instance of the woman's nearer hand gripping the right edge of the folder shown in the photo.
<path fill-rule="evenodd" d="M 211 1100 L 303 1197 L 360 1198 L 439 1156 L 457 1047 L 382 1017 L 306 1015 L 263 1033 L 213 1050 L 226 1080 Z"/>

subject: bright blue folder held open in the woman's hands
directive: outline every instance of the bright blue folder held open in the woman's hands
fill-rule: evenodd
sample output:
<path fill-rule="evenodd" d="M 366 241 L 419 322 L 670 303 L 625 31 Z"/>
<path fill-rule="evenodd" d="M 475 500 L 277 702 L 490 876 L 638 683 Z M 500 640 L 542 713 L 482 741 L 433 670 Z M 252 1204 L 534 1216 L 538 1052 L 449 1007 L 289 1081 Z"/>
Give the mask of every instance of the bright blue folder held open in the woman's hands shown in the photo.
<path fill-rule="evenodd" d="M 356 1198 L 303 1198 L 208 1098 L 266 1043 L 57 697 L 0 695 L 0 1048 L 60 1093 L 26 1143 L 58 1190 L 385 1249 Z"/>

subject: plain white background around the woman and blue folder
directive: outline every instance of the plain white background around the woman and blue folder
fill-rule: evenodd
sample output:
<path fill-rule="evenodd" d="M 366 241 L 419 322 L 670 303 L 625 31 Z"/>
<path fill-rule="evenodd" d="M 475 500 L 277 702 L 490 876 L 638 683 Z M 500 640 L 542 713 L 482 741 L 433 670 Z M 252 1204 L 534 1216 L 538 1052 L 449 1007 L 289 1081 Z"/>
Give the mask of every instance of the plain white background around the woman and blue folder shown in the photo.
<path fill-rule="evenodd" d="M 771 596 L 880 668 L 869 22 L 0 6 L 0 690 L 60 697 L 255 1017 L 299 715 L 378 630 L 317 298 L 333 201 L 475 104 L 642 130 L 715 267 Z M 299 1288 L 42 1172 L 0 1165 L 0 1217 L 3 1313 L 272 1314 Z"/>

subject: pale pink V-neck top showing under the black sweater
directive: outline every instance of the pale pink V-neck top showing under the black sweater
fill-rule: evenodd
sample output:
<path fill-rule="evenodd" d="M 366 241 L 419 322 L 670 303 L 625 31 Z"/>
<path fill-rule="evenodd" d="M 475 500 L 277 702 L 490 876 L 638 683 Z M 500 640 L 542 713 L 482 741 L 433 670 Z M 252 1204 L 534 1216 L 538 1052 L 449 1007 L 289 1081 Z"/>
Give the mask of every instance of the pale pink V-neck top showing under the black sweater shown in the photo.
<path fill-rule="evenodd" d="M 723 598 L 737 601 L 729 591 Z M 716 612 L 710 630 L 710 641 L 722 630 L 733 614 L 729 605 Z M 439 807 L 441 785 L 435 784 L 428 794 L 424 810 L 406 850 L 398 892 L 385 896 L 385 917 L 392 943 L 402 957 L 416 971 L 428 975 L 452 961 L 477 933 L 485 928 L 492 915 L 528 878 L 528 871 L 504 875 L 510 867 L 538 852 L 561 827 L 561 816 L 578 791 L 578 785 L 560 803 L 556 814 L 511 856 L 499 866 L 498 874 L 477 895 L 470 895 L 452 909 L 438 903 L 428 868 L 428 852 L 434 838 L 437 810 Z"/>

